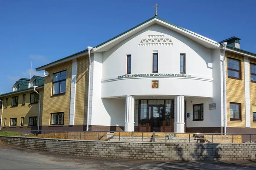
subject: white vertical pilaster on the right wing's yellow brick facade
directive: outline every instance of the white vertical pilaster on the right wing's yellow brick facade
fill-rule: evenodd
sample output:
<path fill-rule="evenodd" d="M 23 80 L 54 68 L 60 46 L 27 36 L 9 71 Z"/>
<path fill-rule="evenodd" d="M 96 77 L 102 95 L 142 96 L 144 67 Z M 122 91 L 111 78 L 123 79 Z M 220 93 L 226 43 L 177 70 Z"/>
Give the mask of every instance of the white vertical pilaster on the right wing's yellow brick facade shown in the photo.
<path fill-rule="evenodd" d="M 245 125 L 250 127 L 250 71 L 249 58 L 244 57 Z"/>

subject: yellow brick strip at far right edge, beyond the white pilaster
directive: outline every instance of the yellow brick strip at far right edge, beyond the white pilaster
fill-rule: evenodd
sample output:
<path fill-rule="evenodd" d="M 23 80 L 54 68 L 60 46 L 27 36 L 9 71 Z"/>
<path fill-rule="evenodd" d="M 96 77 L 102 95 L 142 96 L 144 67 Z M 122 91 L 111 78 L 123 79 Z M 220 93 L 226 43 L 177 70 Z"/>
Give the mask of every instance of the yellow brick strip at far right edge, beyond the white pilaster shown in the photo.
<path fill-rule="evenodd" d="M 250 63 L 256 64 L 256 59 L 250 59 L 249 58 L 249 75 L 250 75 Z M 249 81 L 250 81 L 250 79 L 249 79 Z M 253 122 L 253 105 L 256 105 L 256 82 L 250 82 L 250 117 L 251 117 L 251 127 L 256 127 L 256 122 Z"/>

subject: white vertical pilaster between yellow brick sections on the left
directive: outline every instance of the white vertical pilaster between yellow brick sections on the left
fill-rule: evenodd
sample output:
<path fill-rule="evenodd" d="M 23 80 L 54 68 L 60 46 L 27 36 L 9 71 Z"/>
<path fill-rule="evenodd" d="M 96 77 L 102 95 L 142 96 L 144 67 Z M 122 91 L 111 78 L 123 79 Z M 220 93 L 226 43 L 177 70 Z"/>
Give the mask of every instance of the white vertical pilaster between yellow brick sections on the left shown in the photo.
<path fill-rule="evenodd" d="M 71 77 L 71 95 L 70 95 L 70 122 L 69 125 L 75 125 L 75 104 L 76 104 L 76 70 L 77 59 L 73 59 L 72 63 L 72 77 Z"/>

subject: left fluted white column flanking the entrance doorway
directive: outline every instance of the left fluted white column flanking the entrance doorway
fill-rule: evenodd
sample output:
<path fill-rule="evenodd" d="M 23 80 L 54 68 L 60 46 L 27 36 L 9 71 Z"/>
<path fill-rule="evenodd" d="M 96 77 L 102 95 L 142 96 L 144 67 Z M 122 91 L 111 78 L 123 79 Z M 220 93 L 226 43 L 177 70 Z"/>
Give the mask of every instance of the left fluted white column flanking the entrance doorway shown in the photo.
<path fill-rule="evenodd" d="M 134 132 L 134 97 L 126 96 L 125 132 Z"/>

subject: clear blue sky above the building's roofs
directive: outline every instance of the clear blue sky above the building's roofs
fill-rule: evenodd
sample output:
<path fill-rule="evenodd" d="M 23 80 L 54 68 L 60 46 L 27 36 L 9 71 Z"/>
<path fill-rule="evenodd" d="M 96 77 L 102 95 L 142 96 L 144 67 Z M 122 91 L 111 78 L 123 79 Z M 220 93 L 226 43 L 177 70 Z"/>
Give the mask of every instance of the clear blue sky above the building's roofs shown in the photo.
<path fill-rule="evenodd" d="M 34 68 L 96 46 L 154 16 L 256 53 L 255 0 L 0 0 L 0 93 Z"/>

